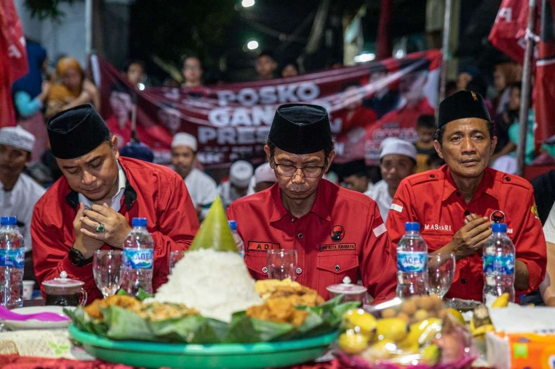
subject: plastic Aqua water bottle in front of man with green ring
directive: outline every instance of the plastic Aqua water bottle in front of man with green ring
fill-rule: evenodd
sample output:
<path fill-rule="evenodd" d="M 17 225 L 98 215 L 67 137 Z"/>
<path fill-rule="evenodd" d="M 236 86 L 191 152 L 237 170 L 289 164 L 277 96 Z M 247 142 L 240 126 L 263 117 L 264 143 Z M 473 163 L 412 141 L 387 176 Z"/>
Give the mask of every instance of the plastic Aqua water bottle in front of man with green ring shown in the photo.
<path fill-rule="evenodd" d="M 147 230 L 147 218 L 133 218 L 131 225 L 123 242 L 121 288 L 132 296 L 139 288 L 152 294 L 154 240 Z"/>

